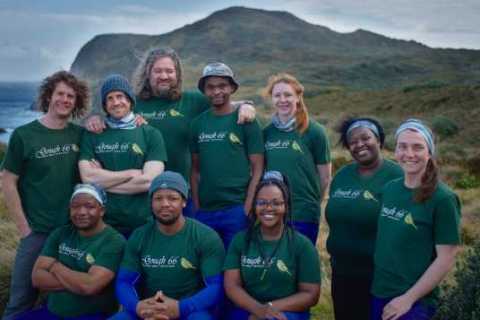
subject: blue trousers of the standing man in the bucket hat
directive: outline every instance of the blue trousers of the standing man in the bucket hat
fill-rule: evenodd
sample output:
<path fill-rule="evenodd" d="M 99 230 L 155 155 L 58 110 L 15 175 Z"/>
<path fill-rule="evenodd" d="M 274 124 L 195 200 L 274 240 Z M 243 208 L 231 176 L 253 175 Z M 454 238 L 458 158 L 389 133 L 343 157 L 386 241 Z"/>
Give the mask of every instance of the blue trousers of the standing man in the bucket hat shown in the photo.
<path fill-rule="evenodd" d="M 237 232 L 246 229 L 248 226 L 248 218 L 243 205 L 216 211 L 198 210 L 195 219 L 215 230 L 222 238 L 225 249 L 228 249 Z"/>

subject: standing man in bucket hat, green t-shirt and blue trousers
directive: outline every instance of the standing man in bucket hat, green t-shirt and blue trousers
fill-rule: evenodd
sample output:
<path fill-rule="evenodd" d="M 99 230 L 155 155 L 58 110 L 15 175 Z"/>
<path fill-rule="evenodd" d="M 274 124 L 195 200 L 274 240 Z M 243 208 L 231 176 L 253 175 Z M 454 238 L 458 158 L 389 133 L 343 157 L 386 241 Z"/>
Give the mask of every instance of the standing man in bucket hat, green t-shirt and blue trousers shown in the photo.
<path fill-rule="evenodd" d="M 192 198 L 196 218 L 228 247 L 247 226 L 246 213 L 263 171 L 263 140 L 257 121 L 239 125 L 230 96 L 238 89 L 232 70 L 215 62 L 203 69 L 198 88 L 212 107 L 193 121 Z"/>

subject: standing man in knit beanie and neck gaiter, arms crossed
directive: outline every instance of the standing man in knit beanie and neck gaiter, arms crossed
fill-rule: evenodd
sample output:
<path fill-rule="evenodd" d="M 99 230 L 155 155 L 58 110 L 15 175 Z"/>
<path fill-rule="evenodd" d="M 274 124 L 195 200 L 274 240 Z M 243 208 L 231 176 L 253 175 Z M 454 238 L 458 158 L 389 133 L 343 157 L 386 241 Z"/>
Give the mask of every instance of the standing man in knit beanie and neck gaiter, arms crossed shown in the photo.
<path fill-rule="evenodd" d="M 105 221 L 128 237 L 151 219 L 147 191 L 163 171 L 167 154 L 160 131 L 135 125 L 136 100 L 127 79 L 108 76 L 101 97 L 107 129 L 83 136 L 80 175 L 84 182 L 105 188 L 110 200 Z"/>

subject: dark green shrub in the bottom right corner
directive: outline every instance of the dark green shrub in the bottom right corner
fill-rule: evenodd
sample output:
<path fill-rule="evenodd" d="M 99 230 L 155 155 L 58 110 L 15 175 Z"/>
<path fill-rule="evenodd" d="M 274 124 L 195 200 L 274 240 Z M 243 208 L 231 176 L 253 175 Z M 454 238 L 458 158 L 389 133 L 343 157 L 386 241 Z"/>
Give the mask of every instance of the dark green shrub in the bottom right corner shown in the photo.
<path fill-rule="evenodd" d="M 444 286 L 436 320 L 480 318 L 480 241 L 457 263 L 455 284 Z"/>

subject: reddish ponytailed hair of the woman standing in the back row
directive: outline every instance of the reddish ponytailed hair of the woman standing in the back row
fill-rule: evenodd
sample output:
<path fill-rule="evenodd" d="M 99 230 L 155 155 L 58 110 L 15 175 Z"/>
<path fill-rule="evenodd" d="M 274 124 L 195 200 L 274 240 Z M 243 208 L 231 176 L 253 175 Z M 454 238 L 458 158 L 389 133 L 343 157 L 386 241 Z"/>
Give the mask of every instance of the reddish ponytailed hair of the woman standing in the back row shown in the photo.
<path fill-rule="evenodd" d="M 294 76 L 288 73 L 278 73 L 271 76 L 268 79 L 268 83 L 264 89 L 264 94 L 263 94 L 266 98 L 272 97 L 273 87 L 277 83 L 285 83 L 290 85 L 295 91 L 296 95 L 298 96 L 298 104 L 297 104 L 297 112 L 295 113 L 295 120 L 296 120 L 297 130 L 300 133 L 304 133 L 305 130 L 307 130 L 308 128 L 308 120 L 309 120 L 307 106 L 305 105 L 305 102 L 303 99 L 305 88 Z"/>

